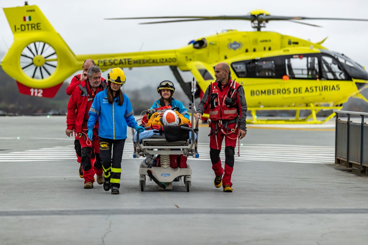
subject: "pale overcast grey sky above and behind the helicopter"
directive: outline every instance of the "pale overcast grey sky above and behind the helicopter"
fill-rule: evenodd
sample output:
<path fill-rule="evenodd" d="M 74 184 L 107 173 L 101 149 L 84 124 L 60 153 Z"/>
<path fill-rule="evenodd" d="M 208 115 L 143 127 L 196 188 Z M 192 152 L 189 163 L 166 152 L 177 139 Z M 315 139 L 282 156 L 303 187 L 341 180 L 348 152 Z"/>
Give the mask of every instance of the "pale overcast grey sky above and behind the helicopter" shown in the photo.
<path fill-rule="evenodd" d="M 367 18 L 367 0 L 29 0 L 37 5 L 75 54 L 125 53 L 175 49 L 190 40 L 213 35 L 224 29 L 252 31 L 248 21 L 200 21 L 156 25 L 138 25 L 139 20 L 103 20 L 112 17 L 161 15 L 244 15 L 263 9 L 273 15 L 304 17 Z M 0 7 L 23 6 L 24 0 L 0 0 Z M 322 25 L 316 28 L 287 21 L 268 23 L 265 30 L 319 42 L 344 53 L 368 68 L 368 22 L 306 21 Z M 13 43 L 13 34 L 0 11 L 0 53 Z M 2 57 L 1 57 L 2 58 Z M 169 67 L 126 69 L 126 89 L 162 80 L 173 80 Z M 103 74 L 106 76 L 105 74 Z M 68 79 L 70 80 L 70 79 Z"/>

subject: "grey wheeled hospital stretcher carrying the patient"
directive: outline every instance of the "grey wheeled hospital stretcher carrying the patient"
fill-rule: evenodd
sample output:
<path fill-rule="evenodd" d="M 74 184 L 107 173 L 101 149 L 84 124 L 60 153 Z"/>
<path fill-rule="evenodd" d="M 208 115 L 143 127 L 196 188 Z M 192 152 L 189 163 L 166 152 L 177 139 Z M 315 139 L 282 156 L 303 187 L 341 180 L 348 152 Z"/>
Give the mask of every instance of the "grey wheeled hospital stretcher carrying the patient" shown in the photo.
<path fill-rule="evenodd" d="M 141 119 L 137 120 L 138 123 L 139 120 Z M 186 164 L 186 158 L 199 157 L 197 152 L 198 120 L 195 129 L 185 126 L 177 127 L 180 127 L 181 133 L 189 134 L 188 140 L 168 142 L 164 133 L 160 135 L 151 132 L 149 132 L 150 137 L 146 138 L 147 131 L 149 130 L 139 134 L 132 129 L 134 158 L 149 157 L 152 155 L 160 156 L 158 158 L 159 166 L 147 167 L 142 163 L 139 166 L 139 186 L 141 187 L 141 191 L 145 190 L 146 179 L 154 181 L 162 190 L 170 190 L 173 188 L 172 183 L 177 177 L 179 181 L 184 181 L 187 191 L 190 191 L 192 169 Z M 149 127 L 146 129 L 149 129 Z M 144 136 L 143 139 L 142 136 Z"/>

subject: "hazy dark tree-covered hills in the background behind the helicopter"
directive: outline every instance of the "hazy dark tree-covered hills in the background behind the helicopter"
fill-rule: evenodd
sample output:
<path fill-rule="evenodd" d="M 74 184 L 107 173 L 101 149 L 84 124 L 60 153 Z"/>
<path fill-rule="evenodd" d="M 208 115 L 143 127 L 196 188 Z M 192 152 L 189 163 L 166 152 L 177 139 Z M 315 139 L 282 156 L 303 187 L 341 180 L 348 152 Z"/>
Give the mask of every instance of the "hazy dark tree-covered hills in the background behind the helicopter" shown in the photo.
<path fill-rule="evenodd" d="M 54 98 L 32 97 L 20 94 L 15 80 L 10 78 L 3 69 L 0 68 L 0 84 L 2 87 L 0 90 L 0 110 L 4 111 L 7 115 L 65 115 L 67 112 L 67 105 L 70 98 L 66 94 L 68 83 L 64 83 L 63 86 L 61 86 Z M 149 109 L 153 101 L 159 99 L 156 87 L 151 86 L 137 87 L 135 90 L 125 90 L 124 93 L 130 98 L 136 115 Z M 368 90 L 364 90 L 362 94 L 368 97 Z M 174 98 L 182 101 L 185 107 L 189 109 L 189 100 L 183 91 L 176 91 Z M 196 104 L 198 106 L 198 100 L 196 100 Z M 343 110 L 367 112 L 368 103 L 360 99 L 350 98 L 349 101 L 344 104 Z M 305 112 L 305 114 L 307 113 L 309 112 Z M 329 111 L 321 111 L 318 115 L 329 115 L 330 113 Z M 269 116 L 293 116 L 293 114 L 295 114 L 293 111 L 262 112 L 262 115 Z M 303 114 L 304 113 L 301 112 L 301 116 Z M 258 115 L 261 115 L 261 112 L 258 113 Z"/>

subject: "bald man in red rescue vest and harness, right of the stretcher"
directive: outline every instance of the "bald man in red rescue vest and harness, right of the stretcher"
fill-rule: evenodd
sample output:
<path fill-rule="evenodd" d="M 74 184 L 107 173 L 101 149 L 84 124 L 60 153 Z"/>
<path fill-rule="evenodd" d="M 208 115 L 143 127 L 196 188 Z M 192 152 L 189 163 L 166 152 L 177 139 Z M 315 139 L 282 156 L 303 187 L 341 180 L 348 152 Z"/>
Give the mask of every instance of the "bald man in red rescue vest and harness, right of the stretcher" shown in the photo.
<path fill-rule="evenodd" d="M 234 149 L 237 138 L 244 138 L 247 134 L 247 102 L 244 89 L 239 83 L 231 79 L 230 67 L 221 62 L 215 66 L 216 81 L 210 84 L 199 103 L 195 118 L 202 118 L 204 110 L 210 106 L 210 158 L 215 172 L 216 188 L 221 185 L 224 192 L 232 192 L 231 174 L 234 167 Z M 221 165 L 220 151 L 225 138 L 225 164 Z M 223 176 L 223 177 L 222 177 Z"/>

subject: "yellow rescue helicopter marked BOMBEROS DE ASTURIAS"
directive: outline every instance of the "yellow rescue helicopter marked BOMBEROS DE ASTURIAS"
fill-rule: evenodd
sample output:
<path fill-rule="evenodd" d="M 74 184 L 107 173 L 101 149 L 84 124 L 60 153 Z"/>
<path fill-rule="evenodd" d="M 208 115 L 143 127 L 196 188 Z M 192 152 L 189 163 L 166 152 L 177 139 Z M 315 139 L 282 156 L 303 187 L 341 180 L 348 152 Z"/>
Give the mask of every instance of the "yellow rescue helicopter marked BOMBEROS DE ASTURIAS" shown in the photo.
<path fill-rule="evenodd" d="M 178 18 L 147 24 L 243 19 L 251 21 L 257 31 L 226 30 L 201 37 L 175 50 L 75 55 L 37 6 L 4 8 L 4 12 L 14 34 L 14 43 L 1 66 L 17 81 L 20 92 L 31 96 L 53 97 L 63 81 L 78 71 L 85 59 L 91 58 L 102 71 L 113 67 L 170 66 L 187 95 L 190 94 L 188 83 L 184 82 L 178 69 L 190 71 L 203 93 L 210 82 L 215 81 L 213 67 L 219 62 L 227 62 L 232 78 L 244 87 L 248 110 L 252 114 L 249 123 L 323 123 L 335 114 L 317 120 L 316 114 L 321 110 L 341 109 L 350 97 L 368 102 L 360 94 L 367 86 L 368 73 L 345 55 L 323 47 L 325 39 L 312 43 L 260 31 L 272 20 L 341 18 L 282 17 L 263 10 L 244 16 L 112 18 Z M 260 120 L 256 118 L 256 112 L 261 110 L 294 110 L 296 116 L 291 120 Z M 311 113 L 300 118 L 301 110 Z"/>

